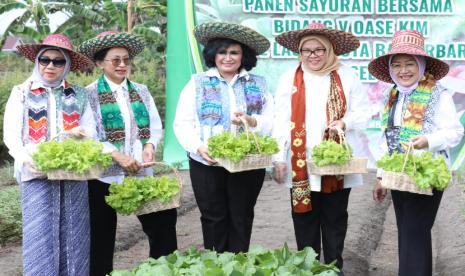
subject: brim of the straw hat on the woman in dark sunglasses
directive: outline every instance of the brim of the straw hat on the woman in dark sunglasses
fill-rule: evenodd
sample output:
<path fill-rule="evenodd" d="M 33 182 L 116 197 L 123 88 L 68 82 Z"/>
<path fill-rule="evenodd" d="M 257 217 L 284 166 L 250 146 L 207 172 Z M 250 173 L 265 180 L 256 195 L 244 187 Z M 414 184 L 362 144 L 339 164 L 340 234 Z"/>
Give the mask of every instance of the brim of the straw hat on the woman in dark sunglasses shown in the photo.
<path fill-rule="evenodd" d="M 29 59 L 32 62 L 36 61 L 36 57 L 39 54 L 40 50 L 45 47 L 54 47 L 65 50 L 69 53 L 71 58 L 71 71 L 86 71 L 93 67 L 93 63 L 85 55 L 82 55 L 78 52 L 72 51 L 67 48 L 58 47 L 56 45 L 49 44 L 22 44 L 16 46 L 20 55 Z"/>

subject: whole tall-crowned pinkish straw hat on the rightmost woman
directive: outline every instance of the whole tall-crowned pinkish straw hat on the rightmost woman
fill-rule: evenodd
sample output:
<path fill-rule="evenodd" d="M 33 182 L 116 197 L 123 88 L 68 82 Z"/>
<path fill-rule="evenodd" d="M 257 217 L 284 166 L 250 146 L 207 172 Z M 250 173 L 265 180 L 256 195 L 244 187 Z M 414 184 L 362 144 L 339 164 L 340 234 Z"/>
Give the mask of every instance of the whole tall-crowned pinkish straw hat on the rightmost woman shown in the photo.
<path fill-rule="evenodd" d="M 444 61 L 428 55 L 424 50 L 425 38 L 414 30 L 397 31 L 392 38 L 389 53 L 373 59 L 368 64 L 368 71 L 377 79 L 394 83 L 389 74 L 389 59 L 393 55 L 407 54 L 422 56 L 426 60 L 425 72 L 429 72 L 436 80 L 442 79 L 449 72 L 449 65 Z"/>

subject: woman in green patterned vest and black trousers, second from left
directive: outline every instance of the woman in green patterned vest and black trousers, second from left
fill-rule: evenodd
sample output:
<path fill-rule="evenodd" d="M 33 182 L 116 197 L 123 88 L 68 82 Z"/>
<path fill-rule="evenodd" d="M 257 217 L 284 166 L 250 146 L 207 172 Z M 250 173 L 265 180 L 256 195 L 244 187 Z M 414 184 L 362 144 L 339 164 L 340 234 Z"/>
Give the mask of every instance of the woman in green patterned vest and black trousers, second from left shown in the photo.
<path fill-rule="evenodd" d="M 79 51 L 92 59 L 102 75 L 87 86 L 97 122 L 97 133 L 111 152 L 114 165 L 101 179 L 89 181 L 91 218 L 91 275 L 113 270 L 116 212 L 105 203 L 109 184 L 121 183 L 124 175 L 153 175 L 150 162 L 161 138 L 162 125 L 147 86 L 128 79 L 132 59 L 145 41 L 128 33 L 104 32 L 87 40 Z M 177 249 L 176 209 L 137 216 L 148 236 L 150 257 Z"/>

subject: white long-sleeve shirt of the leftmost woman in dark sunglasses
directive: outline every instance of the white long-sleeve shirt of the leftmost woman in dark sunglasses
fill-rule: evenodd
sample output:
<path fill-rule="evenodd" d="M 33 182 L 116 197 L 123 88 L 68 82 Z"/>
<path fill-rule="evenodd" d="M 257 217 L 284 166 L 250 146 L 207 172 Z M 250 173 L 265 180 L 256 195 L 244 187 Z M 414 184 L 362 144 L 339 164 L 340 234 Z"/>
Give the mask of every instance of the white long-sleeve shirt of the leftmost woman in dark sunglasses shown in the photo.
<path fill-rule="evenodd" d="M 27 181 L 35 178 L 26 166 L 25 162 L 32 164 L 32 154 L 36 149 L 36 145 L 32 143 L 23 144 L 23 129 L 25 126 L 24 108 L 27 92 L 29 91 L 30 82 L 24 82 L 13 87 L 10 97 L 5 106 L 5 116 L 3 122 L 3 141 L 8 147 L 9 154 L 14 158 L 15 177 L 18 182 Z M 64 85 L 64 82 L 62 86 Z M 39 84 L 32 83 L 31 89 L 39 87 Z M 84 89 L 82 89 L 84 90 Z M 78 91 L 76 91 L 78 93 Z M 82 92 L 85 93 L 85 92 Z M 84 96 L 85 97 L 85 96 Z M 50 137 L 54 137 L 59 132 L 64 130 L 63 121 L 57 120 L 61 118 L 57 112 L 57 100 L 54 93 L 50 93 L 48 97 L 47 120 Z M 89 137 L 96 137 L 95 120 L 92 116 L 92 110 L 89 102 L 86 102 L 84 112 L 79 120 L 79 127 Z"/>

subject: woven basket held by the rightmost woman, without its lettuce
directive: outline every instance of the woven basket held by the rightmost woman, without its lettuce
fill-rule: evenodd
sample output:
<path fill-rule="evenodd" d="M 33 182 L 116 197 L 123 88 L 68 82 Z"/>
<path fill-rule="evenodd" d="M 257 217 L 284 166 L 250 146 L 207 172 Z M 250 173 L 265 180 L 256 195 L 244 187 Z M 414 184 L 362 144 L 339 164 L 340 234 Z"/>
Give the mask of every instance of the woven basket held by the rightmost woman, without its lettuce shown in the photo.
<path fill-rule="evenodd" d="M 401 172 L 383 172 L 381 186 L 385 189 L 398 190 L 422 195 L 433 195 L 431 188 L 420 189 L 415 181 L 405 173 Z"/>

